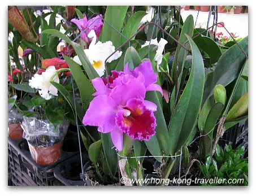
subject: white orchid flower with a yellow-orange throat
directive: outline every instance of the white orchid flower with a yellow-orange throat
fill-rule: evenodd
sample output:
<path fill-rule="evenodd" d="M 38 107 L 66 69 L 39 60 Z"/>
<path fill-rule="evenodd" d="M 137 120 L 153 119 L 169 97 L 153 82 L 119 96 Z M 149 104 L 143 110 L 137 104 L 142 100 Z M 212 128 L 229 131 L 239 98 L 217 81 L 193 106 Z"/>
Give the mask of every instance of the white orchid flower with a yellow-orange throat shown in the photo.
<path fill-rule="evenodd" d="M 104 75 L 105 72 L 105 60 L 115 51 L 115 46 L 113 46 L 113 43 L 111 41 L 107 41 L 105 43 L 98 41 L 96 43 L 96 33 L 94 32 L 94 30 L 90 31 L 88 37 L 93 38 L 93 40 L 90 43 L 89 48 L 84 50 L 84 53 L 89 59 L 92 66 L 97 71 L 98 75 L 101 77 Z M 121 55 L 122 51 L 117 51 L 114 55 L 107 59 L 107 63 L 112 62 L 112 60 L 118 59 Z M 78 56 L 75 56 L 73 60 L 80 65 L 82 64 Z"/>

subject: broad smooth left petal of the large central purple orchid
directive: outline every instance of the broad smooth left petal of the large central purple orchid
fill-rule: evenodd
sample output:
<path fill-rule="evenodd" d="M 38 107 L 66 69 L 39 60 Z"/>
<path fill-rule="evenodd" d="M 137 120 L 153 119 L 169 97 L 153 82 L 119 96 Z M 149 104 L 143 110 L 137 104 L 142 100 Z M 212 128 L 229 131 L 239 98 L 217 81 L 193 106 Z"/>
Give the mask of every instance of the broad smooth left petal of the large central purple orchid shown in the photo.
<path fill-rule="evenodd" d="M 99 132 L 109 133 L 115 129 L 116 109 L 117 105 L 111 97 L 98 95 L 90 102 L 83 124 L 97 126 Z"/>

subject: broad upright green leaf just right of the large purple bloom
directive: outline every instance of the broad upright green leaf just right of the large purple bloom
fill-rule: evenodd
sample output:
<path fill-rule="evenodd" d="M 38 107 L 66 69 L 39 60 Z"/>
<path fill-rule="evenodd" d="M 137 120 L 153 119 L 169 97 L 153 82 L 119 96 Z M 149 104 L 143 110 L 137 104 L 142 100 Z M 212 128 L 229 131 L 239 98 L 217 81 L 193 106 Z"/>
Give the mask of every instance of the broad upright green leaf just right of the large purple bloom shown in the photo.
<path fill-rule="evenodd" d="M 188 139 L 197 121 L 202 102 L 205 71 L 196 43 L 186 35 L 192 49 L 192 69 L 183 94 L 173 113 L 169 127 L 170 154 L 174 155 Z"/>

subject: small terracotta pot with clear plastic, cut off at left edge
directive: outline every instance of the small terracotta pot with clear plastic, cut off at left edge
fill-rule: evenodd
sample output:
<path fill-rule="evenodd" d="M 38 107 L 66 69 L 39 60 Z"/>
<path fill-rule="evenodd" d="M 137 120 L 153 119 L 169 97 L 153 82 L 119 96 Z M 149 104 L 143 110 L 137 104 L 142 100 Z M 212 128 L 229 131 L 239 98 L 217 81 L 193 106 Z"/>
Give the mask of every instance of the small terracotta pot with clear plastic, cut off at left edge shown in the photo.
<path fill-rule="evenodd" d="M 23 115 L 16 109 L 8 111 L 8 137 L 12 140 L 20 140 L 23 136 L 23 130 L 20 123 L 23 120 Z"/>

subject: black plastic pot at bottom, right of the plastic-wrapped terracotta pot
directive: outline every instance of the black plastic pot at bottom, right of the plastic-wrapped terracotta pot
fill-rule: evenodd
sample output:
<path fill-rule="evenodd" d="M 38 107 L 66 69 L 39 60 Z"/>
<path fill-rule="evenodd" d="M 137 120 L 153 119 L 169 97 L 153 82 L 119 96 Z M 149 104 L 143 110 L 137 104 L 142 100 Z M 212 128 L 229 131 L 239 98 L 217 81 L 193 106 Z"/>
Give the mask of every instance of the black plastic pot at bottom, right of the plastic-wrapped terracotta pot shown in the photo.
<path fill-rule="evenodd" d="M 82 153 L 82 160 L 83 164 L 89 160 L 89 156 L 86 151 Z M 85 182 L 81 180 L 80 173 L 80 154 L 57 164 L 54 168 L 54 176 L 66 186 L 84 186 Z"/>

